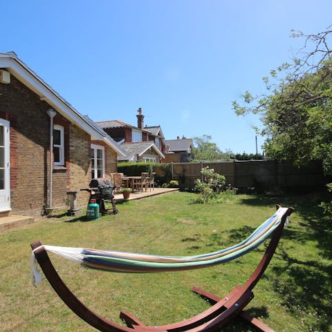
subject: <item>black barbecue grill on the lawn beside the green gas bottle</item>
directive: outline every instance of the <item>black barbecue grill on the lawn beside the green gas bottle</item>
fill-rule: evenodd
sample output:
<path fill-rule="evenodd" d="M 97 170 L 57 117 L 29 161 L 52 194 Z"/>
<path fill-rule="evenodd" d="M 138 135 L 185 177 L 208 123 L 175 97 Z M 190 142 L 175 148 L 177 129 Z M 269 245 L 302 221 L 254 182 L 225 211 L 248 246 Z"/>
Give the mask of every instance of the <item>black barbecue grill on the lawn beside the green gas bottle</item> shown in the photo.
<path fill-rule="evenodd" d="M 116 208 L 116 203 L 113 196 L 114 185 L 109 178 L 93 178 L 90 181 L 89 188 L 81 190 L 90 192 L 89 202 L 91 199 L 95 199 L 95 202 L 99 205 L 101 214 L 117 214 L 119 212 Z M 112 208 L 105 208 L 105 202 L 111 203 Z"/>

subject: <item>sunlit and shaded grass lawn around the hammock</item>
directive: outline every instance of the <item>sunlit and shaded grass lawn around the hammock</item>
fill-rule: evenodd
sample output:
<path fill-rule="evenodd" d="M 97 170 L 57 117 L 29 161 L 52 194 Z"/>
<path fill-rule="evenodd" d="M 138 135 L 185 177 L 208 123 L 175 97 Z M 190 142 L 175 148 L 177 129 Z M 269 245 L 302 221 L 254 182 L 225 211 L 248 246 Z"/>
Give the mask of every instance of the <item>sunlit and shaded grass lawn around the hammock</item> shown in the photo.
<path fill-rule="evenodd" d="M 80 320 L 47 281 L 30 283 L 30 243 L 91 247 L 156 255 L 199 255 L 245 239 L 275 211 L 295 212 L 248 311 L 275 331 L 332 331 L 331 222 L 312 196 L 278 199 L 238 195 L 220 205 L 196 205 L 194 194 L 174 192 L 118 205 L 119 214 L 98 221 L 59 215 L 0 234 L 0 331 L 95 331 Z M 178 273 L 105 273 L 50 254 L 64 282 L 88 307 L 122 324 L 121 310 L 158 325 L 200 313 L 209 304 L 190 291 L 220 297 L 243 284 L 266 245 L 226 264 Z M 240 319 L 221 331 L 255 331 Z"/>

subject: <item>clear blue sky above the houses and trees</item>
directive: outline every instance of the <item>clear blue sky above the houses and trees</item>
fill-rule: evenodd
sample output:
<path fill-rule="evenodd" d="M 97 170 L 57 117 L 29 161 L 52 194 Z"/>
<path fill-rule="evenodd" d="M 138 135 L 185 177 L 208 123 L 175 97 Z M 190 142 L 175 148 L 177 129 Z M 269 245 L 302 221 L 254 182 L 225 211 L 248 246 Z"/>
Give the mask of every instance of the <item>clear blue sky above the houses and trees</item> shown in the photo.
<path fill-rule="evenodd" d="M 158 125 L 166 139 L 208 134 L 255 153 L 259 119 L 232 100 L 332 23 L 331 0 L 0 0 L 0 52 L 15 51 L 95 121 Z M 259 152 L 263 138 L 258 138 Z"/>

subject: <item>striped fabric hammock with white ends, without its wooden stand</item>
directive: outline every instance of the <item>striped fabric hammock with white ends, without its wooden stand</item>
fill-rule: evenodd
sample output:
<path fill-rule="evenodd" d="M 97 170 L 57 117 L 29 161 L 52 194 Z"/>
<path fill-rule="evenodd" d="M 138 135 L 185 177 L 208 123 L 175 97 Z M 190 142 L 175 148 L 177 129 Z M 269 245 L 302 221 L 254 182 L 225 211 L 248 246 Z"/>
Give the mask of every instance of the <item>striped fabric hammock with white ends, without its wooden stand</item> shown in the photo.
<path fill-rule="evenodd" d="M 144 255 L 134 252 L 121 252 L 111 250 L 97 250 L 91 248 L 70 248 L 59 246 L 42 246 L 48 252 L 62 256 L 72 261 L 77 261 L 89 268 L 109 270 L 113 272 L 126 273 L 155 273 L 165 271 L 190 270 L 205 268 L 216 264 L 225 263 L 237 257 L 245 255 L 247 252 L 257 248 L 263 243 L 282 221 L 282 216 L 287 208 L 279 208 L 273 216 L 262 223 L 252 234 L 240 243 L 230 248 L 225 248 L 216 252 L 210 252 L 197 256 L 157 256 Z M 40 247 L 39 247 L 40 248 Z M 38 248 L 35 248 L 37 250 Z M 32 279 L 33 283 L 41 282 L 42 277 L 37 270 L 37 261 L 34 251 L 31 255 Z"/>

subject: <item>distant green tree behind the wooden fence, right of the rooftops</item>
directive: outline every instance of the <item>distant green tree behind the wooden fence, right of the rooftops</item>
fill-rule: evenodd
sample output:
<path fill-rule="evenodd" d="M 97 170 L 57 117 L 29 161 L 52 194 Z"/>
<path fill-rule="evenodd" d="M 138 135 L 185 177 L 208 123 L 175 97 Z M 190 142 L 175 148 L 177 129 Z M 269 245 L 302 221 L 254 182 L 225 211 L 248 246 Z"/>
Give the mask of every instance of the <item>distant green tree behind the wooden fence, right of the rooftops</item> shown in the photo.
<path fill-rule="evenodd" d="M 230 153 L 223 152 L 216 143 L 211 142 L 212 136 L 203 135 L 201 137 L 194 137 L 194 154 L 195 159 L 197 160 L 206 160 L 206 161 L 214 161 L 214 160 L 230 160 Z"/>

